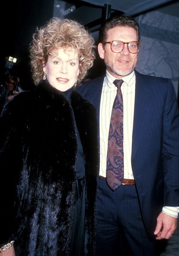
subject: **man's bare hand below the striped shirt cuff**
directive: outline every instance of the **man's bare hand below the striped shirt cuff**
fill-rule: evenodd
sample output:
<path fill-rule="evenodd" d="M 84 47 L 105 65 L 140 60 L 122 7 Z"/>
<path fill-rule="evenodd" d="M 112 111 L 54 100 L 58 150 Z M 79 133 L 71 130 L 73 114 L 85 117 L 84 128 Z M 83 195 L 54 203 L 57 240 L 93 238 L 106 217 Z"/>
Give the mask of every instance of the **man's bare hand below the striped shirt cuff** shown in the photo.
<path fill-rule="evenodd" d="M 160 212 L 157 218 L 157 226 L 154 234 L 156 240 L 169 239 L 177 227 L 177 218 L 174 218 L 164 212 Z"/>

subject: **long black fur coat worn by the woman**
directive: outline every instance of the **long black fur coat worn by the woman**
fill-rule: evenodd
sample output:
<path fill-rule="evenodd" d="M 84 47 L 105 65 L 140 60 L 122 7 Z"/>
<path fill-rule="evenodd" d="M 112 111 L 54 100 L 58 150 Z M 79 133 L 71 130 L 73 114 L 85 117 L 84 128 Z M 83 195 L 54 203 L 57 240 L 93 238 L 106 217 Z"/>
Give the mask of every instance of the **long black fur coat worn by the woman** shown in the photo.
<path fill-rule="evenodd" d="M 85 255 L 95 255 L 97 123 L 73 91 L 71 106 L 85 159 Z M 68 256 L 77 137 L 65 96 L 42 82 L 16 95 L 0 117 L 0 246 L 16 256 Z"/>

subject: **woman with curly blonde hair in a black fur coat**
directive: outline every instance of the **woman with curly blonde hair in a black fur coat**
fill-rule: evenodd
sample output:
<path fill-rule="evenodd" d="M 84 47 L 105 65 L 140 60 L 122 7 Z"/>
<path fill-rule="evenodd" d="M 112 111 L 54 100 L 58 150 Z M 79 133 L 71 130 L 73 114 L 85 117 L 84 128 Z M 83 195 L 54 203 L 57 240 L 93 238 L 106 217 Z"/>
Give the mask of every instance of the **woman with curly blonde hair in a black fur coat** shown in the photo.
<path fill-rule="evenodd" d="M 93 48 L 68 19 L 53 18 L 33 35 L 37 88 L 15 95 L 0 117 L 1 250 L 14 241 L 2 256 L 95 255 L 96 113 L 74 90 Z"/>

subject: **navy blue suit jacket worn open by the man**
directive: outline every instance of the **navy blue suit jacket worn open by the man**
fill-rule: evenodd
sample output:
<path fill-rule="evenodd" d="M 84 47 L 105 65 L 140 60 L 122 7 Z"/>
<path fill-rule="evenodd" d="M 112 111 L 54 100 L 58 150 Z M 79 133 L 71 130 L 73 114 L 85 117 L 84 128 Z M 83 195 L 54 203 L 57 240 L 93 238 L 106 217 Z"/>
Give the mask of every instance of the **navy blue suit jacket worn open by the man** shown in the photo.
<path fill-rule="evenodd" d="M 179 111 L 170 79 L 135 73 L 131 164 L 144 225 L 154 238 L 162 207 L 179 206 Z M 77 89 L 96 107 L 98 124 L 103 80 L 84 82 Z"/>

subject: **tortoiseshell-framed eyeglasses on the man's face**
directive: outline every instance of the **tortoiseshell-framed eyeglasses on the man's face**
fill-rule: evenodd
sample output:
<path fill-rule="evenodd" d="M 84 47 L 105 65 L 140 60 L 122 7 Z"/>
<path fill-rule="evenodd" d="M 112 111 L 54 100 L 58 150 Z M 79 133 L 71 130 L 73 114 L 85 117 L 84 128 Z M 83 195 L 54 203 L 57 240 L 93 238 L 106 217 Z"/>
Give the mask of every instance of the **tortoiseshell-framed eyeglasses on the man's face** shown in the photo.
<path fill-rule="evenodd" d="M 124 44 L 127 44 L 128 50 L 130 53 L 138 53 L 140 50 L 140 46 L 142 43 L 137 41 L 131 41 L 129 43 L 122 42 L 122 41 L 110 41 L 110 42 L 104 42 L 102 44 L 111 44 L 111 51 L 113 53 L 120 53 L 122 52 L 124 48 Z"/>

